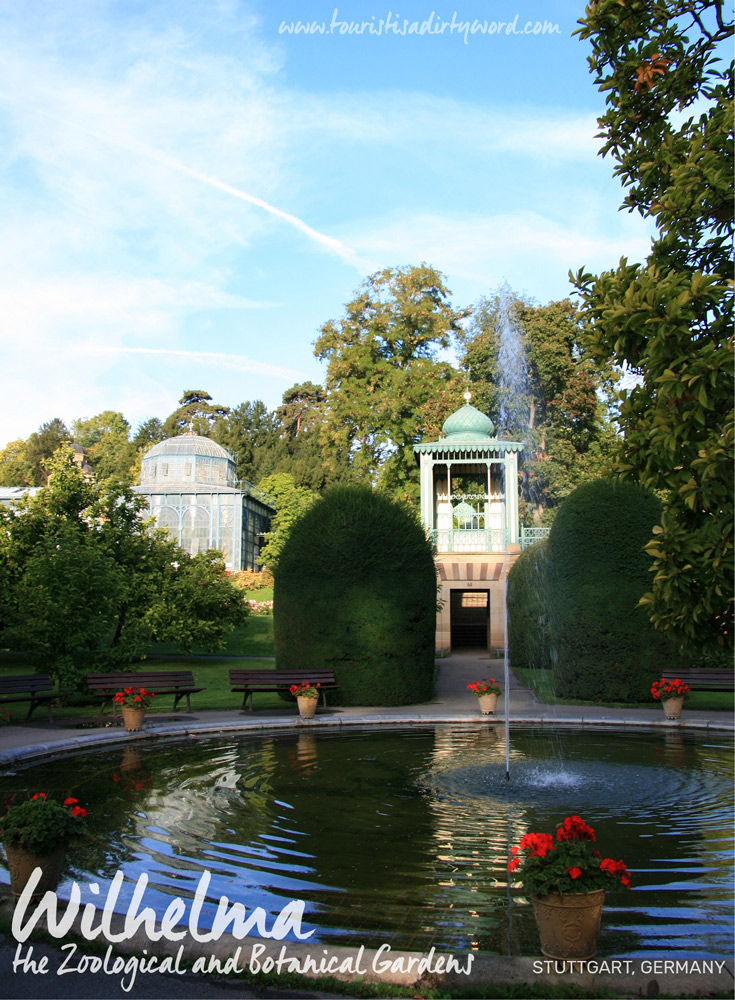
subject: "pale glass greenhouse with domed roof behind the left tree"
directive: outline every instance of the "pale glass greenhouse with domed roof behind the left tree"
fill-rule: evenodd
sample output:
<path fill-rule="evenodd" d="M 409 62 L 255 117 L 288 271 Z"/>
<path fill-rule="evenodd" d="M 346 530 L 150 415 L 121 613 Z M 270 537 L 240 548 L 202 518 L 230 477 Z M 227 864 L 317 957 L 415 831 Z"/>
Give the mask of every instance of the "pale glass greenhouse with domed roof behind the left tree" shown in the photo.
<path fill-rule="evenodd" d="M 219 549 L 232 572 L 259 568 L 273 503 L 237 479 L 235 456 L 215 441 L 182 434 L 154 445 L 134 489 L 147 498 L 157 526 L 191 555 Z"/>

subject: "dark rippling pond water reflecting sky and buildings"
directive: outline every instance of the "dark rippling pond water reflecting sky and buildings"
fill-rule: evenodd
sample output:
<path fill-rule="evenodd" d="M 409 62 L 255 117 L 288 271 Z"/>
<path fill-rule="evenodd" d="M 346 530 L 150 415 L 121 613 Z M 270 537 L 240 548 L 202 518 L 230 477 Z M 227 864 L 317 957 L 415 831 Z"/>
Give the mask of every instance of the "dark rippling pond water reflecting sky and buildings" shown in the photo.
<path fill-rule="evenodd" d="M 598 954 L 723 957 L 732 949 L 733 752 L 686 732 L 431 726 L 133 741 L 0 776 L 0 796 L 73 795 L 89 836 L 70 850 L 84 888 L 141 872 L 159 916 L 212 873 L 220 896 L 278 913 L 305 901 L 311 941 L 538 953 L 509 847 L 571 813 L 622 858 Z M 0 871 L 7 881 L 7 872 Z M 82 902 L 92 897 L 82 894 Z M 99 898 L 94 900 L 99 902 Z"/>

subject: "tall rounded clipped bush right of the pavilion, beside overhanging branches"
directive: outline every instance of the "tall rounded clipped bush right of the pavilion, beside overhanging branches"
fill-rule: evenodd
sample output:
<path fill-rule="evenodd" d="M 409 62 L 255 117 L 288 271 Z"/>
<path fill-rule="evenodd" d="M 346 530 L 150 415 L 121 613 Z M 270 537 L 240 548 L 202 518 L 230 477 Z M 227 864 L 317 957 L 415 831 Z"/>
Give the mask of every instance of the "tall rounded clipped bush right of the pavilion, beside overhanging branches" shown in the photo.
<path fill-rule="evenodd" d="M 561 504 L 548 538 L 547 586 L 554 685 L 562 698 L 650 701 L 677 660 L 639 599 L 651 586 L 643 546 L 661 504 L 627 482 L 595 480 Z"/>

